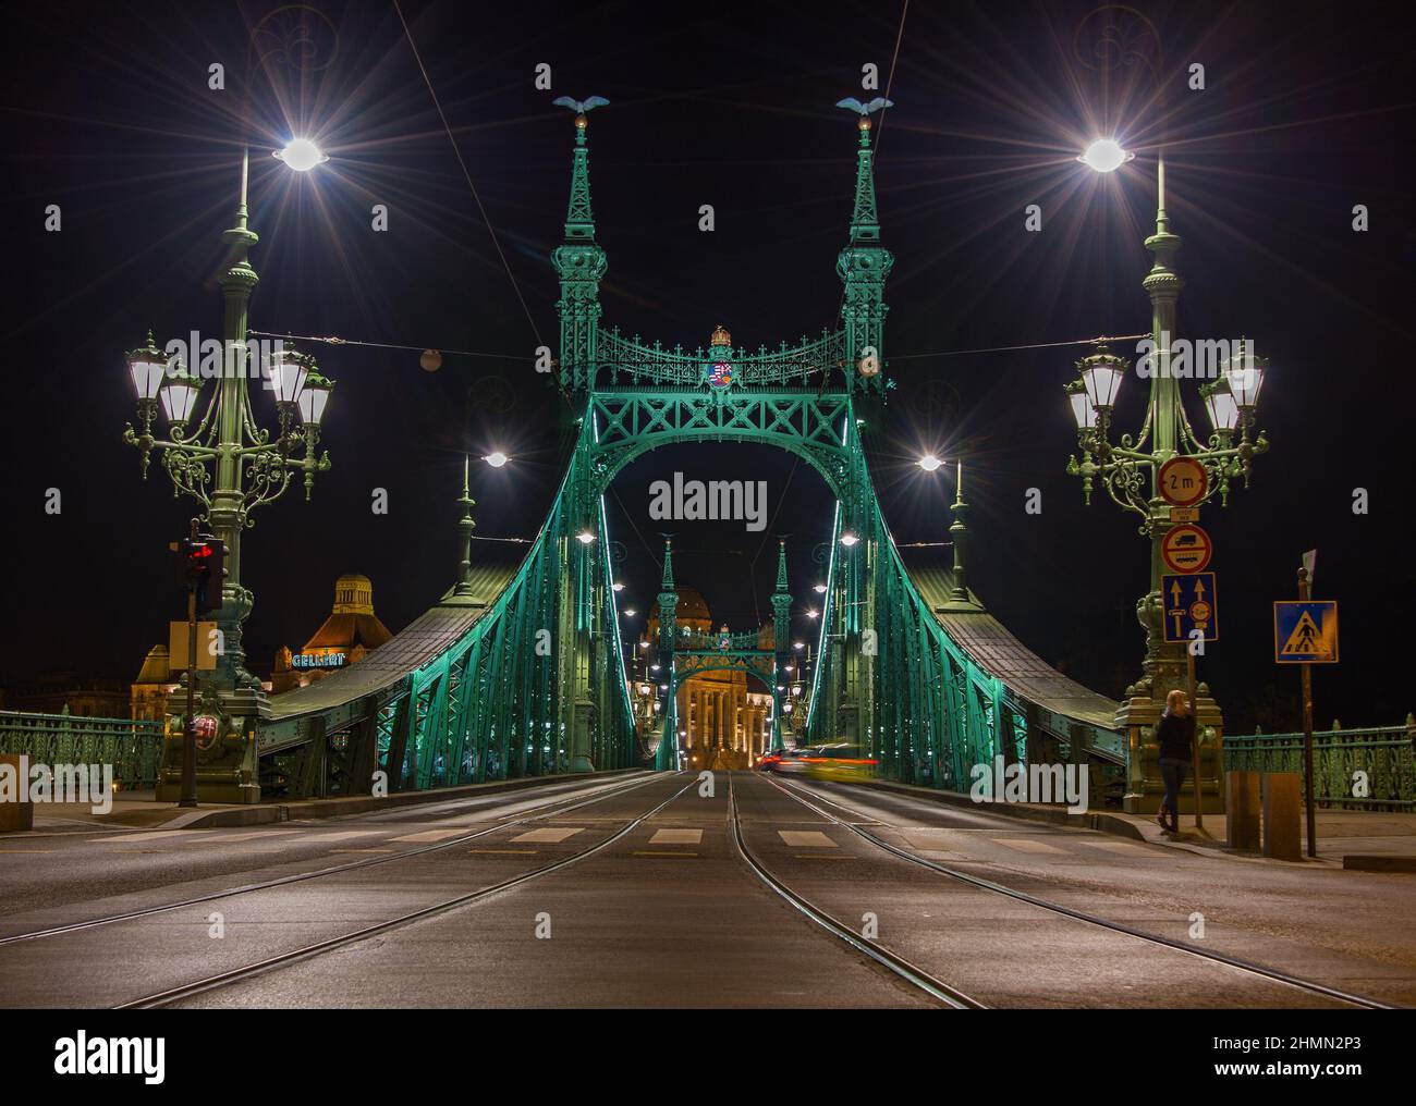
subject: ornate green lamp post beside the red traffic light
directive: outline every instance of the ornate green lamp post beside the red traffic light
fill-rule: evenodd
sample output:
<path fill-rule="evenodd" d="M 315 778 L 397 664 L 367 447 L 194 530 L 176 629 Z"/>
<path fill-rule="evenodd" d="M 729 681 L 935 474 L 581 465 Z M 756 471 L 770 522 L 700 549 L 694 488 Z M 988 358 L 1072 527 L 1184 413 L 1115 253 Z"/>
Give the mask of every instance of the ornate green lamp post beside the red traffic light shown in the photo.
<path fill-rule="evenodd" d="M 313 168 L 323 158 L 306 140 L 296 140 L 282 153 L 282 160 L 295 171 Z M 295 349 L 278 344 L 266 359 L 248 349 L 248 310 L 258 281 L 248 253 L 259 240 L 246 225 L 248 177 L 249 151 L 242 151 L 235 225 L 222 233 L 229 255 L 218 281 L 225 301 L 219 355 L 202 356 L 198 349 L 190 349 L 188 359 L 200 358 L 200 365 L 187 365 L 180 355 L 157 349 L 149 332 L 147 344 L 127 355 L 139 429 L 129 424 L 123 431 L 123 440 L 139 450 L 143 478 L 147 478 L 156 451 L 171 479 L 173 495 L 195 499 L 214 535 L 227 545 L 228 574 L 222 607 L 217 612 L 217 670 L 204 697 L 204 710 L 217 714 L 222 724 L 219 741 L 235 747 L 245 740 L 251 748 L 242 750 L 239 758 L 232 748 L 232 759 L 241 759 L 242 765 L 227 765 L 229 782 L 205 789 L 204 798 L 225 802 L 259 798 L 249 737 L 256 718 L 270 714 L 261 682 L 245 669 L 241 624 L 251 614 L 252 595 L 241 584 L 241 536 L 251 525 L 251 511 L 278 499 L 297 474 L 304 477 L 309 499 L 314 474 L 329 470 L 329 454 L 317 455 L 316 447 L 334 388 L 319 373 L 313 358 Z M 167 349 L 176 345 L 169 344 Z M 211 378 L 217 383 L 208 390 Z M 273 433 L 256 421 L 251 379 L 262 379 L 273 395 L 278 420 Z M 153 433 L 159 407 L 167 421 L 166 438 Z M 194 677 L 191 672 L 185 676 Z M 219 761 L 221 750 L 211 758 Z M 166 786 L 159 786 L 159 798 L 164 798 Z"/>

